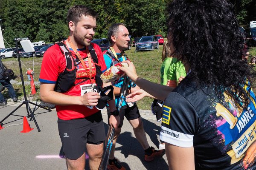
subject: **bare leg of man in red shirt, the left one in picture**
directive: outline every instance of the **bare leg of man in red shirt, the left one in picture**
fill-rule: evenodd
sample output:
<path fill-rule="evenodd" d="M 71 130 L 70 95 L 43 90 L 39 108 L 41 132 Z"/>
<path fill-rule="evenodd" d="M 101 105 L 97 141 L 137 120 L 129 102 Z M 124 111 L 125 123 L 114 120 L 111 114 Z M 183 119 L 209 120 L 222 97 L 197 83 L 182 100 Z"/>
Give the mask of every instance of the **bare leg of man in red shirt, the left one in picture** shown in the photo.
<path fill-rule="evenodd" d="M 66 158 L 68 170 L 84 170 L 85 167 L 85 153 L 76 160 Z"/>

